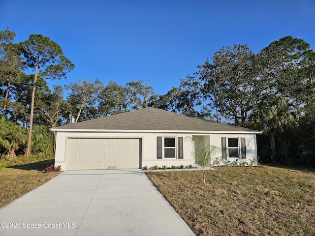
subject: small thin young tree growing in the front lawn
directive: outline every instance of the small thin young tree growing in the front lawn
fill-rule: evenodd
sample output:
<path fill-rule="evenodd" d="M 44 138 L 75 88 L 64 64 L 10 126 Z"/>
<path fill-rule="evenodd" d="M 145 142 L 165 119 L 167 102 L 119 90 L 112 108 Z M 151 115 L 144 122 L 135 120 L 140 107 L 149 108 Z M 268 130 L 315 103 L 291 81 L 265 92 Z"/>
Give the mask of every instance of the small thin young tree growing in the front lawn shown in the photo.
<path fill-rule="evenodd" d="M 199 139 L 192 137 L 192 142 L 195 148 L 195 158 L 198 165 L 202 167 L 203 171 L 203 182 L 206 183 L 205 179 L 205 167 L 209 164 L 211 158 L 220 151 L 220 148 L 213 145 L 203 146 Z"/>

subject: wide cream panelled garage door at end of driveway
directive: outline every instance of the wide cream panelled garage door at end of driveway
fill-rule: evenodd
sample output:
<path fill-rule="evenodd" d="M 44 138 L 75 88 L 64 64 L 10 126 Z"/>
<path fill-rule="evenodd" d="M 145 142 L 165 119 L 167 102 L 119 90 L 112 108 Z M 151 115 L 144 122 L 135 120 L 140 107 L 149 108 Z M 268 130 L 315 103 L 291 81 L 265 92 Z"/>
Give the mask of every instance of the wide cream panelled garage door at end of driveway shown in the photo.
<path fill-rule="evenodd" d="M 67 140 L 67 170 L 139 168 L 139 139 Z"/>

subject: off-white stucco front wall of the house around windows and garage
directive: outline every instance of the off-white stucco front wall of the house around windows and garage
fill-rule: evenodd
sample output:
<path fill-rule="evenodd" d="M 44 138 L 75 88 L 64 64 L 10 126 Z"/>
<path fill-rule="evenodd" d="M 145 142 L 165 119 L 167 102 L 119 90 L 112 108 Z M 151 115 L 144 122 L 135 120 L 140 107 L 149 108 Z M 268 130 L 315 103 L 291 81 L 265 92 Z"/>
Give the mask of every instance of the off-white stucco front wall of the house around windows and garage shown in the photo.
<path fill-rule="evenodd" d="M 194 165 L 194 153 L 193 144 L 191 142 L 192 135 L 198 135 L 203 137 L 204 145 L 217 146 L 221 148 L 221 137 L 231 137 L 231 138 L 246 138 L 246 152 L 247 159 L 254 160 L 257 158 L 257 148 L 256 148 L 256 135 L 255 134 L 189 134 L 184 132 L 177 133 L 141 133 L 141 132 L 57 132 L 57 143 L 56 143 L 56 154 L 55 154 L 55 166 L 61 165 L 62 170 L 66 170 L 66 141 L 68 138 L 139 138 L 142 141 L 141 145 L 141 167 L 147 166 L 148 168 L 157 165 L 162 167 L 166 165 L 171 167 L 172 165 Z M 163 158 L 157 160 L 157 136 L 162 137 L 183 137 L 184 144 L 184 159 L 171 159 Z M 177 142 L 176 138 L 176 142 Z M 176 148 L 178 152 L 178 148 Z M 178 154 L 177 154 L 178 156 Z M 217 157 L 221 156 L 221 152 L 217 154 Z M 244 160 L 244 159 L 243 159 Z M 233 160 L 230 160 L 233 161 Z"/>

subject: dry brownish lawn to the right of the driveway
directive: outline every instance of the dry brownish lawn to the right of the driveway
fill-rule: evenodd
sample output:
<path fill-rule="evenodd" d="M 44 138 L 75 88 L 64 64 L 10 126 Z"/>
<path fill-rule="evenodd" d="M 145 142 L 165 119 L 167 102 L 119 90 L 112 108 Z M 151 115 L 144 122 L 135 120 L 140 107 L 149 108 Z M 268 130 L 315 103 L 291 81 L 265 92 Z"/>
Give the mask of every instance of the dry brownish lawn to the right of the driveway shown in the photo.
<path fill-rule="evenodd" d="M 148 172 L 196 235 L 315 235 L 315 170 L 269 166 Z"/>

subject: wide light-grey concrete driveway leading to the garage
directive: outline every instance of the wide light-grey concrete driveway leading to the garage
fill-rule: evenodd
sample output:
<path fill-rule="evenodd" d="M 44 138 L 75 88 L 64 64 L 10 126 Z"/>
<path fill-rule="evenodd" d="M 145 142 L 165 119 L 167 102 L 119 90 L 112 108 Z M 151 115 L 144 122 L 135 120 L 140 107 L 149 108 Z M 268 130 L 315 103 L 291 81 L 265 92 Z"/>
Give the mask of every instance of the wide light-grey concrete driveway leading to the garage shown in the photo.
<path fill-rule="evenodd" d="M 194 236 L 141 170 L 65 171 L 0 208 L 0 236 Z"/>

